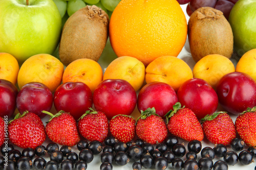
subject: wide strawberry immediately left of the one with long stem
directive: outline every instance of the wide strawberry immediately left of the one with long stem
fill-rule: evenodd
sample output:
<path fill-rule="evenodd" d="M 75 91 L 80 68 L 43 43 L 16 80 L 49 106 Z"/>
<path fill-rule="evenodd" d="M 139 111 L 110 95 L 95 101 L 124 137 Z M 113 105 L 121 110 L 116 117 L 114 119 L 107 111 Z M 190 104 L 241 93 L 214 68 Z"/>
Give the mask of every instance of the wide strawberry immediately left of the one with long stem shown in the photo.
<path fill-rule="evenodd" d="M 46 139 L 45 126 L 35 113 L 19 113 L 9 122 L 9 139 L 20 148 L 33 148 Z"/>

